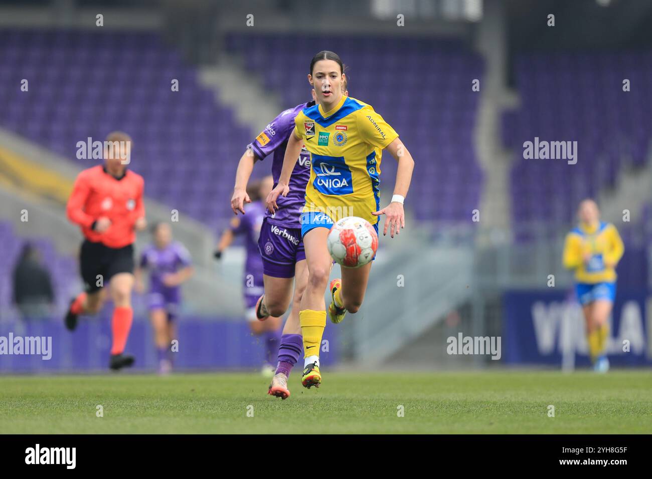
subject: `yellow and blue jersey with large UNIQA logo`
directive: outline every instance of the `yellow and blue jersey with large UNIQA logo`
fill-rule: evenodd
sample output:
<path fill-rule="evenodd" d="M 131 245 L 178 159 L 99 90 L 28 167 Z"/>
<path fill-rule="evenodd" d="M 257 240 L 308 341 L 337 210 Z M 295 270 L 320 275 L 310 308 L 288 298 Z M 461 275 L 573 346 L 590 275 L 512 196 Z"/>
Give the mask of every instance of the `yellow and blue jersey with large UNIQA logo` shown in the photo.
<path fill-rule="evenodd" d="M 380 205 L 381 151 L 398 133 L 374 109 L 342 96 L 331 111 L 317 104 L 295 118 L 295 136 L 310 152 L 312 171 L 304 212 L 321 211 L 334 222 L 359 216 L 372 225 Z"/>

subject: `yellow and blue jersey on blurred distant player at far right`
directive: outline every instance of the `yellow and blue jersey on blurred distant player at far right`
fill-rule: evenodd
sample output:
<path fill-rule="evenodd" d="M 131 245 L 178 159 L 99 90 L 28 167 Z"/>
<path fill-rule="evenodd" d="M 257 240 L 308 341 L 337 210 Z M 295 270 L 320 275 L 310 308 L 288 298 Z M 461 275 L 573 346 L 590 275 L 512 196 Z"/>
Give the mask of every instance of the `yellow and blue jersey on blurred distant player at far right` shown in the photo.
<path fill-rule="evenodd" d="M 599 222 L 596 227 L 580 224 L 567 235 L 563 263 L 575 270 L 575 281 L 595 284 L 614 282 L 615 266 L 623 256 L 625 246 L 618 230 L 610 223 Z M 584 255 L 590 255 L 584 263 Z"/>

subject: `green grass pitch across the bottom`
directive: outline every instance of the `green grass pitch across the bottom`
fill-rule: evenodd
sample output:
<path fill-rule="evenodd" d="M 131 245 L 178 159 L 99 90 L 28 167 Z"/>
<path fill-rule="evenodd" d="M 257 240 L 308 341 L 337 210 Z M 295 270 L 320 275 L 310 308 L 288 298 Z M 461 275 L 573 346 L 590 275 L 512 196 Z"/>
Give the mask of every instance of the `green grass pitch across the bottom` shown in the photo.
<path fill-rule="evenodd" d="M 643 370 L 326 371 L 310 390 L 299 378 L 294 371 L 282 401 L 246 373 L 4 376 L 0 432 L 652 433 Z"/>

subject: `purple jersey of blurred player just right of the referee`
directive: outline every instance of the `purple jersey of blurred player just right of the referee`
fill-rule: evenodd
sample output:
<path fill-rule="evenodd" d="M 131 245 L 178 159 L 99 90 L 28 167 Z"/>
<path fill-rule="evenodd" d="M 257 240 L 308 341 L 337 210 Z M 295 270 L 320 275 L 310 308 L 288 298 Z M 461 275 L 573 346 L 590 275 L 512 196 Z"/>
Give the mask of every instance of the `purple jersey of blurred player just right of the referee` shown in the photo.
<path fill-rule="evenodd" d="M 190 253 L 183 244 L 173 241 L 159 250 L 150 244 L 140 256 L 140 267 L 150 271 L 149 292 L 163 295 L 168 302 L 178 302 L 181 286 L 166 286 L 163 278 L 166 274 L 177 272 L 190 266 Z"/>

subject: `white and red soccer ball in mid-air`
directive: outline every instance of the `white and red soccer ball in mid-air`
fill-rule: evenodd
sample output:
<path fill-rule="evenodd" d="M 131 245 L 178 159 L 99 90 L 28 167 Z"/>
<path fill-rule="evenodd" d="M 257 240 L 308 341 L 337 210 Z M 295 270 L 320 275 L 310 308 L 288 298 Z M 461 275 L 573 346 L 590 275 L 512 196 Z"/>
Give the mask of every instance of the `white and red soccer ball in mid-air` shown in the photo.
<path fill-rule="evenodd" d="M 348 268 L 366 265 L 378 249 L 376 229 L 357 216 L 347 216 L 334 224 L 327 242 L 328 252 L 335 262 Z"/>

